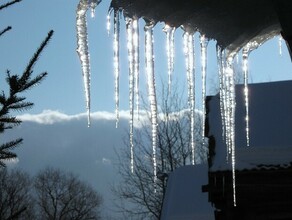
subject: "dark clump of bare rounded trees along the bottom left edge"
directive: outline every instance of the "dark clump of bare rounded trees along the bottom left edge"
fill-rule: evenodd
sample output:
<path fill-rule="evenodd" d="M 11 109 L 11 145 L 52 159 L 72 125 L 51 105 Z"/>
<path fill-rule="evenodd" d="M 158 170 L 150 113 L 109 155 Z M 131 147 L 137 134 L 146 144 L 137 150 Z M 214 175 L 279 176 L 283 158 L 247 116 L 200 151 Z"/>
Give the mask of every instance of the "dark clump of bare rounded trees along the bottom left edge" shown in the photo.
<path fill-rule="evenodd" d="M 47 168 L 31 178 L 0 169 L 1 220 L 100 219 L 101 196 L 72 173 Z"/>

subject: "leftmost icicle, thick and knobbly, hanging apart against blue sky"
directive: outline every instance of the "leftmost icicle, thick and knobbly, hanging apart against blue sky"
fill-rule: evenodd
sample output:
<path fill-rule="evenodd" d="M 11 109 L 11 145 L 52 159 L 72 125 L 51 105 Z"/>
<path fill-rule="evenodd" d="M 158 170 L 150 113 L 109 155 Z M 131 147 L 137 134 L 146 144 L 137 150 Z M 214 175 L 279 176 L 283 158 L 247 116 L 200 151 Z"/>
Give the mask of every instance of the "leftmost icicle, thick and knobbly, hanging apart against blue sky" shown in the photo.
<path fill-rule="evenodd" d="M 77 53 L 82 66 L 88 126 L 90 126 L 90 61 L 87 40 L 86 12 L 89 8 L 94 10 L 99 3 L 99 0 L 81 0 L 76 10 Z"/>

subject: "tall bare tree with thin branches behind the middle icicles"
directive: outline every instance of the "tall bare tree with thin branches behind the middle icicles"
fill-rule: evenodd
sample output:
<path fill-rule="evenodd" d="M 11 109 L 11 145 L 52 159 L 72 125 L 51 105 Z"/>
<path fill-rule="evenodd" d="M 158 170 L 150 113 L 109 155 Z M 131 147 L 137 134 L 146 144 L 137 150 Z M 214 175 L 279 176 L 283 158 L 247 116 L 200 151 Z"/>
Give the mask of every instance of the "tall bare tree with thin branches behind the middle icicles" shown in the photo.
<path fill-rule="evenodd" d="M 187 102 L 174 89 L 163 92 L 159 103 L 157 134 L 157 177 L 153 183 L 151 126 L 149 120 L 134 133 L 134 173 L 129 168 L 129 138 L 118 154 L 121 182 L 113 186 L 118 211 L 127 219 L 159 219 L 166 190 L 167 176 L 176 168 L 191 163 L 190 112 Z M 148 112 L 148 111 L 146 111 Z M 149 115 L 147 116 L 149 119 Z M 201 135 L 201 115 L 196 114 L 196 162 L 207 160 L 207 146 Z M 129 135 L 129 134 L 128 134 Z M 128 136 L 127 135 L 127 136 Z M 154 189 L 156 187 L 156 189 Z M 156 192 L 154 192 L 156 191 Z"/>

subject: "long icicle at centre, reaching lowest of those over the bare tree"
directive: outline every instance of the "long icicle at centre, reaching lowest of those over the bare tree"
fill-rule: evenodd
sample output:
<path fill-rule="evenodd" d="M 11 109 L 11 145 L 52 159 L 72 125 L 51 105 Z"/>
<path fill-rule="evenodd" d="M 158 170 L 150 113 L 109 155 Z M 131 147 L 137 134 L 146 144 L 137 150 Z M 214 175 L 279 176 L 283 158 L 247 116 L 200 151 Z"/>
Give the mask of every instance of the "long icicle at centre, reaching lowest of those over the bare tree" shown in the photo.
<path fill-rule="evenodd" d="M 154 76 L 154 55 L 153 55 L 153 27 L 154 23 L 147 22 L 145 30 L 145 58 L 146 73 L 148 82 L 148 98 L 151 112 L 152 126 L 152 149 L 153 149 L 153 172 L 154 172 L 154 191 L 156 192 L 157 164 L 156 164 L 156 144 L 157 144 L 157 102 Z"/>

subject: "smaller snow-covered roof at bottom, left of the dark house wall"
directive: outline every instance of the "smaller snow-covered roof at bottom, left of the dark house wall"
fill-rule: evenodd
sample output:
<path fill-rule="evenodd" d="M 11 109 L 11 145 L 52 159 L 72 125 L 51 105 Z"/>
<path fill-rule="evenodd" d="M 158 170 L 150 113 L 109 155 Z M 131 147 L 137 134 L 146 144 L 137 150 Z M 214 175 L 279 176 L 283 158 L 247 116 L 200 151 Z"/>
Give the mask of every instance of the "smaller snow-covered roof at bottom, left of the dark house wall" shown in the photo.
<path fill-rule="evenodd" d="M 202 192 L 207 183 L 206 164 L 183 166 L 169 174 L 161 220 L 213 220 L 208 193 Z"/>

